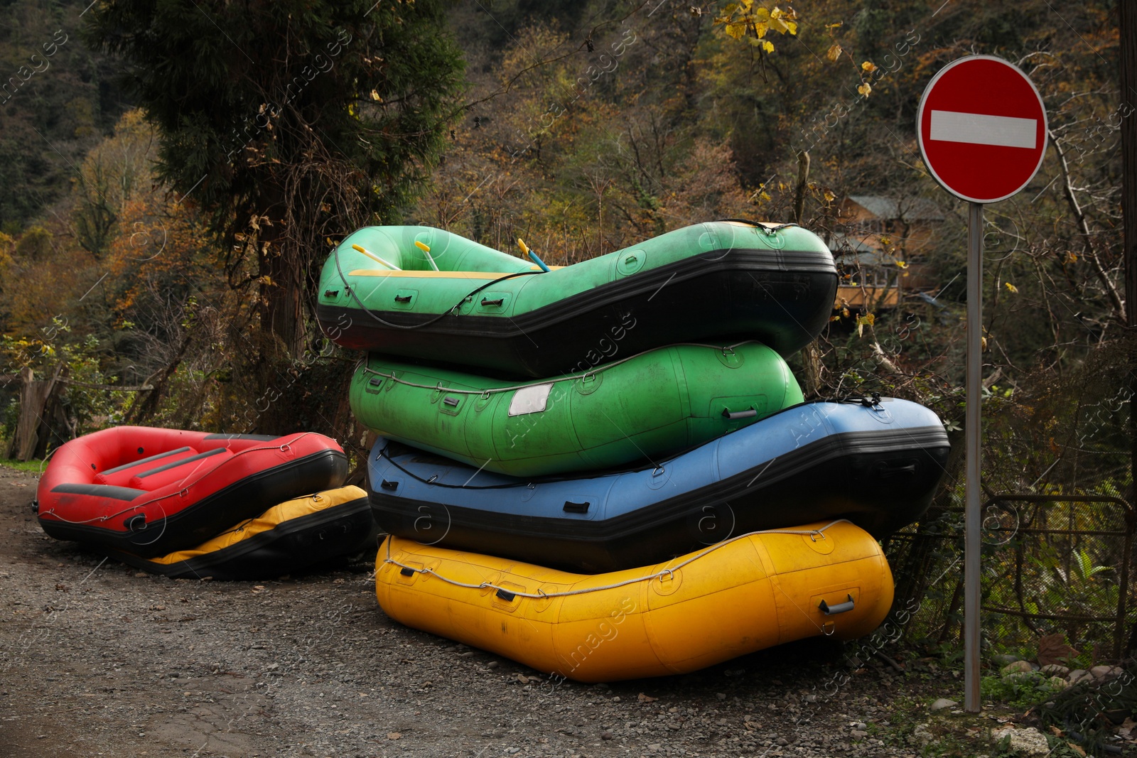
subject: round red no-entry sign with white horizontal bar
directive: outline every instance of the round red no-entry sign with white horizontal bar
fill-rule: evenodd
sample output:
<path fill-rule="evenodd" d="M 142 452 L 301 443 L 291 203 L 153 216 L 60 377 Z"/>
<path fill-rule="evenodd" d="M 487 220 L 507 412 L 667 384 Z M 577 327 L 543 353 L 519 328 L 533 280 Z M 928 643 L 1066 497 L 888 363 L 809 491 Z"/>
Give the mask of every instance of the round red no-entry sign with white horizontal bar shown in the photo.
<path fill-rule="evenodd" d="M 969 56 L 928 83 L 916 135 L 924 164 L 945 190 L 995 202 L 1027 186 L 1043 165 L 1046 108 L 1016 67 L 994 56 Z"/>

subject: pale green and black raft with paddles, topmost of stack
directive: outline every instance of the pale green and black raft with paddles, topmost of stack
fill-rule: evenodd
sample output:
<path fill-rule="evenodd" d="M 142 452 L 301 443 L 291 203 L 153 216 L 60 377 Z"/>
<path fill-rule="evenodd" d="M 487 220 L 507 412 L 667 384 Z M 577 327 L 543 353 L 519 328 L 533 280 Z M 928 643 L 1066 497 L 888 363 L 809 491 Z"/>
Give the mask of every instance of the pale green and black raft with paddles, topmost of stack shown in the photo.
<path fill-rule="evenodd" d="M 368 226 L 324 265 L 316 315 L 345 348 L 546 377 L 678 342 L 787 356 L 821 332 L 836 291 L 825 243 L 790 224 L 695 224 L 563 268 L 429 226 Z"/>

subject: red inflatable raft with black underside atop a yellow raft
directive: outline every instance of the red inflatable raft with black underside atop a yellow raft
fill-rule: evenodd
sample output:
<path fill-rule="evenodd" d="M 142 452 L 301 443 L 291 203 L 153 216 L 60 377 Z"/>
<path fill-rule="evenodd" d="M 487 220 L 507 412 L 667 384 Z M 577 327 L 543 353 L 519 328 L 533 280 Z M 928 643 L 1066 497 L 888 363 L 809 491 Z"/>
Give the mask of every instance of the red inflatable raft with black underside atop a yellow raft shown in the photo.
<path fill-rule="evenodd" d="M 284 436 L 117 426 L 59 448 L 40 480 L 43 531 L 151 558 L 200 544 L 292 498 L 343 484 L 315 432 Z"/>

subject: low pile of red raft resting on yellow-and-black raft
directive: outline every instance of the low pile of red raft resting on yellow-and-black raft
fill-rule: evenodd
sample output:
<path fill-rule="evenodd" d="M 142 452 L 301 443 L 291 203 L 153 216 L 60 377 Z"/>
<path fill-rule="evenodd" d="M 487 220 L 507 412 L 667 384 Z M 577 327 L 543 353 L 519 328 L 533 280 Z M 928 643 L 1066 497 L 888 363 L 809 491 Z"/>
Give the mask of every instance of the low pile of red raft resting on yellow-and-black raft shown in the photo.
<path fill-rule="evenodd" d="M 313 432 L 116 426 L 60 447 L 34 508 L 51 536 L 149 572 L 267 578 L 366 548 L 367 493 L 347 474 L 340 445 Z"/>

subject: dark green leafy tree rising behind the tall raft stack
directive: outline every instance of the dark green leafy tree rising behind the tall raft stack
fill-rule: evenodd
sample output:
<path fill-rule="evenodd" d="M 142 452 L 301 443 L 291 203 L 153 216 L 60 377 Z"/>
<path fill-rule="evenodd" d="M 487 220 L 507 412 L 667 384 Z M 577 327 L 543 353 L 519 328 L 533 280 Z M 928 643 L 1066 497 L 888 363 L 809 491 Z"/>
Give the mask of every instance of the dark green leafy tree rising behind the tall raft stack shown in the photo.
<path fill-rule="evenodd" d="M 462 73 L 441 5 L 108 0 L 88 16 L 159 128 L 159 178 L 209 215 L 277 353 L 302 350 L 327 238 L 393 219 L 435 160 Z"/>

